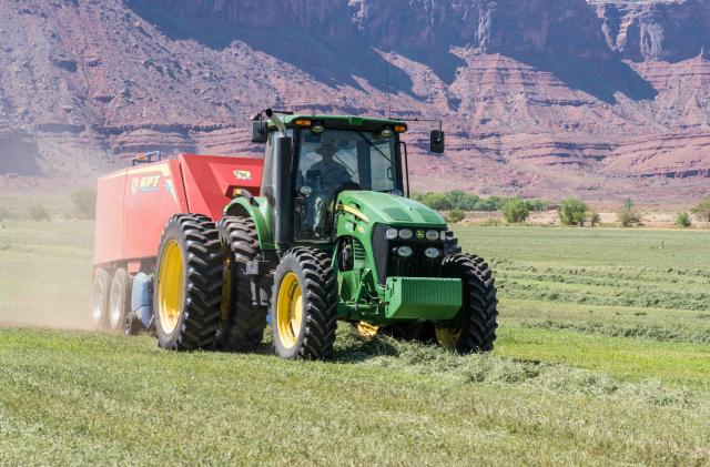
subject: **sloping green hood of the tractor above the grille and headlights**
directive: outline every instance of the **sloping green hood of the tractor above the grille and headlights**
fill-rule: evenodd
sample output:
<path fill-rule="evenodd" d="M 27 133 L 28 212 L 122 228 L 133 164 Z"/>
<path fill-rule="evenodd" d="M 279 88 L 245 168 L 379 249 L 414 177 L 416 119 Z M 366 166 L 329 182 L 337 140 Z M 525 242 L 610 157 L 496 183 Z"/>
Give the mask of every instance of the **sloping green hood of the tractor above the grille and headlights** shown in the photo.
<path fill-rule="evenodd" d="M 341 204 L 346 211 L 364 215 L 372 224 L 446 226 L 446 221 L 426 205 L 387 193 L 344 191 L 338 196 L 338 205 Z"/>

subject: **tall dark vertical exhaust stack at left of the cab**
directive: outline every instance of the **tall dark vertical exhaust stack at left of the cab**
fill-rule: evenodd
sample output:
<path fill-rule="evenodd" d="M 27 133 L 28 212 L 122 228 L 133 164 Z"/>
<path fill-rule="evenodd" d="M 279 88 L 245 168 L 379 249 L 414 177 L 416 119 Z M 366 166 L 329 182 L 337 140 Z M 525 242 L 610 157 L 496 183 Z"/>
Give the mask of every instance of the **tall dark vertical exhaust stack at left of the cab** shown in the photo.
<path fill-rule="evenodd" d="M 293 140 L 274 135 L 274 241 L 278 250 L 293 242 Z"/>

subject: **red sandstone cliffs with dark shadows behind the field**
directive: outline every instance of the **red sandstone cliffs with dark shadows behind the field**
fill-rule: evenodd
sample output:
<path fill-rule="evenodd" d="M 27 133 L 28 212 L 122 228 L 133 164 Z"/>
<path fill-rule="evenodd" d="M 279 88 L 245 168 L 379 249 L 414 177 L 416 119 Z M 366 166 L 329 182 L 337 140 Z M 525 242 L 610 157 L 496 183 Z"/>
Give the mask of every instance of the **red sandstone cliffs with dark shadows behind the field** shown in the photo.
<path fill-rule="evenodd" d="M 702 0 L 6 0 L 0 176 L 256 155 L 258 109 L 390 106 L 445 120 L 445 156 L 412 125 L 418 189 L 682 203 L 710 192 L 708 26 Z"/>

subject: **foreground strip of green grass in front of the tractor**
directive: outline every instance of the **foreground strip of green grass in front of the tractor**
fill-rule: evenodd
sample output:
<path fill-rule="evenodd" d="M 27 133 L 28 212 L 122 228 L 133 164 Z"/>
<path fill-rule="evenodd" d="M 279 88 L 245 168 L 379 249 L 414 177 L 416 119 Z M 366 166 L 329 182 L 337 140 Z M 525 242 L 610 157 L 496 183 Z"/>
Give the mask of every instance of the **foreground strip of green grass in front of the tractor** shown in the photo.
<path fill-rule="evenodd" d="M 0 336 L 0 464 L 710 461 L 702 394 L 568 366 L 358 345 L 347 329 L 335 363 Z"/>

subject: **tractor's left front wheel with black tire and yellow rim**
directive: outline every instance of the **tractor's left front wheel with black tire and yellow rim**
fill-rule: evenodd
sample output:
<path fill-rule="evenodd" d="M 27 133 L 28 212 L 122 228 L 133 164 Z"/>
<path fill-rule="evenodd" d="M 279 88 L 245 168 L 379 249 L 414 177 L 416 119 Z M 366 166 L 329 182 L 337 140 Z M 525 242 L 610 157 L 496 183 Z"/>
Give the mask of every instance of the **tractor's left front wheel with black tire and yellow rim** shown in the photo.
<path fill-rule="evenodd" d="M 293 329 L 293 342 L 284 343 L 284 290 L 297 287 L 302 303 L 301 318 Z M 287 293 L 287 291 L 286 291 Z M 331 258 L 315 248 L 296 247 L 281 258 L 274 274 L 271 323 L 276 354 L 287 359 L 325 359 L 333 354 L 337 328 L 337 282 Z M 293 323 L 291 321 L 290 323 Z M 291 324 L 290 324 L 291 325 Z M 284 336 L 287 338 L 290 336 Z"/>

